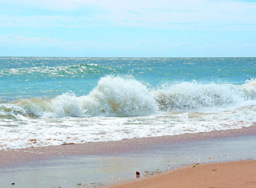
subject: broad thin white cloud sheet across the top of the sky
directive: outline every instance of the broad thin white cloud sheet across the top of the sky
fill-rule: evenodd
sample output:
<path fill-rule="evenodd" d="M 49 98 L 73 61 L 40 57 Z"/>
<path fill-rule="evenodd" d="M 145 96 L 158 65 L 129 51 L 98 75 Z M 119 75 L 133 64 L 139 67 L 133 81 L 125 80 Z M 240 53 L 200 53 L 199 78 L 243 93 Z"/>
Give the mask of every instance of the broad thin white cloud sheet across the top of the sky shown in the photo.
<path fill-rule="evenodd" d="M 177 30 L 256 30 L 256 2 L 209 0 L 9 0 L 55 16 L 0 16 L 0 26 L 140 27 Z M 68 10 L 87 10 L 75 16 Z M 67 11 L 67 12 L 65 12 Z"/>

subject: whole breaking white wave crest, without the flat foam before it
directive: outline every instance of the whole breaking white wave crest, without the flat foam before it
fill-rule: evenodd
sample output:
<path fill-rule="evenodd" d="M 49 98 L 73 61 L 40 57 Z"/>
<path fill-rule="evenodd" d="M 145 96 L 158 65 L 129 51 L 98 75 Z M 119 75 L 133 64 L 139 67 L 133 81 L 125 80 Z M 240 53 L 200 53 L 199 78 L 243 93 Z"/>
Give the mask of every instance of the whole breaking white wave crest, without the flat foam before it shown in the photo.
<path fill-rule="evenodd" d="M 256 80 L 244 85 L 182 82 L 149 91 L 133 78 L 106 76 L 88 95 L 66 93 L 54 99 L 19 99 L 0 105 L 0 115 L 37 117 L 138 116 L 159 111 L 199 110 L 255 105 Z"/>

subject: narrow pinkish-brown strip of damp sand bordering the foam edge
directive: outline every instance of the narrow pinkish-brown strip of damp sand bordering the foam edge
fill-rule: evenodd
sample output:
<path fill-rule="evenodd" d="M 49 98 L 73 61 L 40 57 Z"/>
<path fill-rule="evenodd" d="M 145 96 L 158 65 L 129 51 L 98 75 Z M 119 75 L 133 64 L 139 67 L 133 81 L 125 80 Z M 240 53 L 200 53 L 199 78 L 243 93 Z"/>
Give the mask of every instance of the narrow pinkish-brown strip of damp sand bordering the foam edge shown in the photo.
<path fill-rule="evenodd" d="M 0 150 L 0 166 L 19 160 L 39 160 L 49 156 L 59 155 L 102 155 L 131 150 L 145 150 L 157 144 L 176 143 L 180 141 L 196 141 L 204 139 L 218 139 L 230 136 L 256 135 L 256 125 L 242 129 L 228 129 L 211 132 L 199 132 L 192 134 L 178 134 L 172 136 L 134 138 L 119 141 L 90 142 L 66 144 L 57 146 L 42 146 L 21 149 Z M 16 155 L 22 153 L 22 155 Z M 31 154 L 33 155 L 31 157 Z"/>

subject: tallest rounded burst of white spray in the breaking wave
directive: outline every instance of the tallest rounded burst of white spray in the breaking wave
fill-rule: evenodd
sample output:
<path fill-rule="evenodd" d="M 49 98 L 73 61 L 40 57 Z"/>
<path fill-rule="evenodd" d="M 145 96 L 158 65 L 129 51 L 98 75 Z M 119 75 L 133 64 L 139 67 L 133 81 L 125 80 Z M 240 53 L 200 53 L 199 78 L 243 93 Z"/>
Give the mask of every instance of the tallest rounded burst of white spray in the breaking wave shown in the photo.
<path fill-rule="evenodd" d="M 117 115 L 156 113 L 157 106 L 149 89 L 135 79 L 106 76 L 89 94 L 98 101 L 102 111 Z"/>

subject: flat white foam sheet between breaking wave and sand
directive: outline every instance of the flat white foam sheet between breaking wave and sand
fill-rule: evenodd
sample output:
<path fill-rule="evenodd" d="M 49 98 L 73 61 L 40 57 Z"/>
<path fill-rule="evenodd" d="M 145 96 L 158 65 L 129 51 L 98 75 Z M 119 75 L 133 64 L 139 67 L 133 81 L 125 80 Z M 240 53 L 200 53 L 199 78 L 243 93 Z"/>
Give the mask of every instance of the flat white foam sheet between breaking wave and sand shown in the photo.
<path fill-rule="evenodd" d="M 256 107 L 222 113 L 165 112 L 135 117 L 31 118 L 6 120 L 0 126 L 0 149 L 113 141 L 249 127 L 256 122 Z M 5 125 L 12 126 L 5 126 Z"/>

